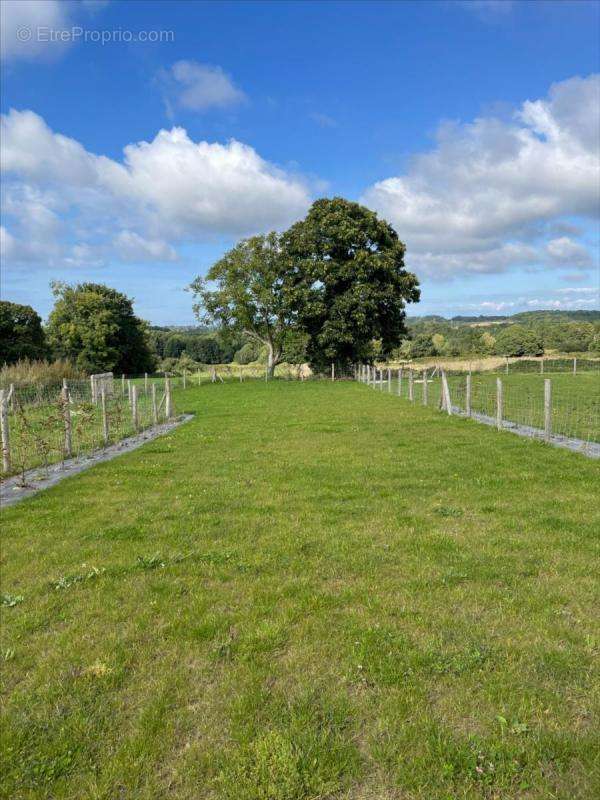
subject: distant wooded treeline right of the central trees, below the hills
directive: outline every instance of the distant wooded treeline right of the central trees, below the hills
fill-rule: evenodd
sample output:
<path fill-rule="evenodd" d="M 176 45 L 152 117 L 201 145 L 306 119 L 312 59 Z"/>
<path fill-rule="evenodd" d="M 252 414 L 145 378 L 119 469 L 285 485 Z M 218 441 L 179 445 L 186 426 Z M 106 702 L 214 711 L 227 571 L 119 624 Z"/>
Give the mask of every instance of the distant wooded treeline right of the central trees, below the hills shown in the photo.
<path fill-rule="evenodd" d="M 431 356 L 541 356 L 544 353 L 600 353 L 600 314 L 585 312 L 580 322 L 552 312 L 528 312 L 502 321 L 485 317 L 423 317 L 408 319 L 410 338 L 396 353 L 399 358 Z M 515 318 L 524 321 L 513 322 Z M 465 321 L 463 321 L 465 320 Z M 468 321 L 467 321 L 468 320 Z"/>

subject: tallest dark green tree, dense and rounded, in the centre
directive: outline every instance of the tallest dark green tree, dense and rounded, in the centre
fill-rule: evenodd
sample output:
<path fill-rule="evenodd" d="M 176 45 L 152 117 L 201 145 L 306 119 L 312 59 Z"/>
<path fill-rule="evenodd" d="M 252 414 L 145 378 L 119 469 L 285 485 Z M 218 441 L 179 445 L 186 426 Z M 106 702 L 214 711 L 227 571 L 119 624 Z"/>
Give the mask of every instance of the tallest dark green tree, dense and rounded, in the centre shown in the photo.
<path fill-rule="evenodd" d="M 399 345 L 406 304 L 418 302 L 420 292 L 389 223 L 358 203 L 322 199 L 281 244 L 310 287 L 297 323 L 308 334 L 313 367 L 371 360 L 374 340 L 384 356 Z"/>

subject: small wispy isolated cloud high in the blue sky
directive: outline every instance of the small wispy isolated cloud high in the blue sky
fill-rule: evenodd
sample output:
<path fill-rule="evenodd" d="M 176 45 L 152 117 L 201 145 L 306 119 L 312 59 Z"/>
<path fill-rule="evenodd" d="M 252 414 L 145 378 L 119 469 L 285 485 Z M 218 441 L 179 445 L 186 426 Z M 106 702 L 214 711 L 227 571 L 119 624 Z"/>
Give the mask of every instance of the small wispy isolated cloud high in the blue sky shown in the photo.
<path fill-rule="evenodd" d="M 221 67 L 198 61 L 177 61 L 169 70 L 161 70 L 158 81 L 170 114 L 174 106 L 206 111 L 230 108 L 247 100 Z"/>

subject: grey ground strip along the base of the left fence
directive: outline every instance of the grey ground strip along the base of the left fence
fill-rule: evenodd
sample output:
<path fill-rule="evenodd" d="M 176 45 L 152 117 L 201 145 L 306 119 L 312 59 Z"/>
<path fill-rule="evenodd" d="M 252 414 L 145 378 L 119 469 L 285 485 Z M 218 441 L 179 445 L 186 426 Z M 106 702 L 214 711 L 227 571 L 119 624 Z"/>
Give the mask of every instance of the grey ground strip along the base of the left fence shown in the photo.
<path fill-rule="evenodd" d="M 55 486 L 65 478 L 71 477 L 71 475 L 77 475 L 79 472 L 93 467 L 95 464 L 101 464 L 103 461 L 110 461 L 117 456 L 123 455 L 123 453 L 137 450 L 138 447 L 146 444 L 146 442 L 151 442 L 158 436 L 164 436 L 165 433 L 169 433 L 190 419 L 193 419 L 192 414 L 184 414 L 170 422 L 164 422 L 162 425 L 149 428 L 147 431 L 138 433 L 135 436 L 121 439 L 120 442 L 111 444 L 104 450 L 97 450 L 90 455 L 69 458 L 64 462 L 51 464 L 47 470 L 43 467 L 27 470 L 24 485 L 22 475 L 13 475 L 11 478 L 3 480 L 0 484 L 0 506 L 2 508 L 12 506 L 27 497 L 32 497 L 34 494 L 50 488 L 50 486 Z"/>

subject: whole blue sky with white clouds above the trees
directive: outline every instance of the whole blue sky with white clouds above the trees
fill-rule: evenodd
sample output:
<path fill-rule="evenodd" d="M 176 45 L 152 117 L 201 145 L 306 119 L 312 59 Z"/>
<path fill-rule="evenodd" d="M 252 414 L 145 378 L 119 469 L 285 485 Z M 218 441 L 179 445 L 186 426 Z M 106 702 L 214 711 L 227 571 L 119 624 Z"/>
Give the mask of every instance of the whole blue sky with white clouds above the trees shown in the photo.
<path fill-rule="evenodd" d="M 599 305 L 597 2 L 2 16 L 5 299 L 45 317 L 51 280 L 94 280 L 188 324 L 186 285 L 227 247 L 343 195 L 406 242 L 411 314 Z"/>

